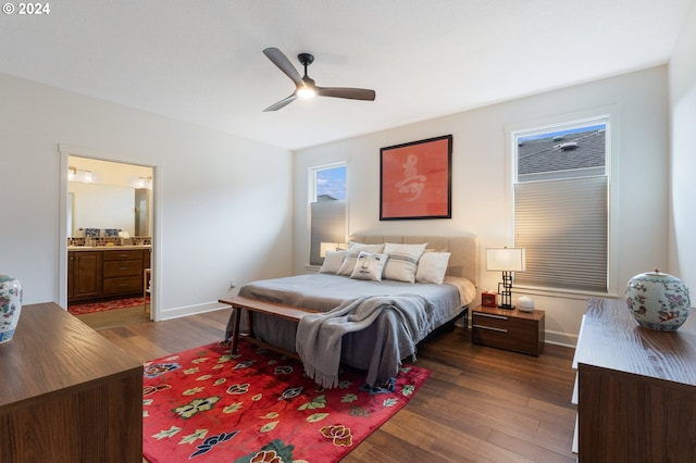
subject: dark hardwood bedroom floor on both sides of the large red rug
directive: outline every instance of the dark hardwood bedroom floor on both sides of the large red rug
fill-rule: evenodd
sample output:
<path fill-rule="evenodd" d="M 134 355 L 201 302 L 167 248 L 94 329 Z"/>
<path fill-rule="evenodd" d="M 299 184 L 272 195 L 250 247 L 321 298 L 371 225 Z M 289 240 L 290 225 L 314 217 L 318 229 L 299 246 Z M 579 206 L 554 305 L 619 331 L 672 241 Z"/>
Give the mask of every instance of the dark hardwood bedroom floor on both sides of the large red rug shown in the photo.
<path fill-rule="evenodd" d="M 228 310 L 102 329 L 138 361 L 220 340 Z M 471 345 L 456 328 L 422 346 L 433 373 L 411 402 L 344 462 L 575 462 L 573 350 L 539 358 Z"/>

